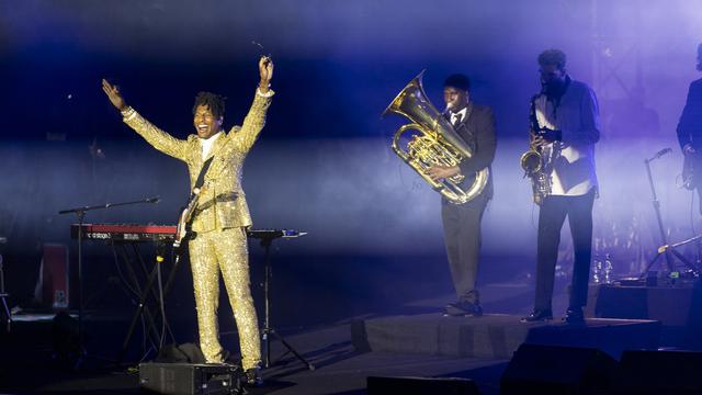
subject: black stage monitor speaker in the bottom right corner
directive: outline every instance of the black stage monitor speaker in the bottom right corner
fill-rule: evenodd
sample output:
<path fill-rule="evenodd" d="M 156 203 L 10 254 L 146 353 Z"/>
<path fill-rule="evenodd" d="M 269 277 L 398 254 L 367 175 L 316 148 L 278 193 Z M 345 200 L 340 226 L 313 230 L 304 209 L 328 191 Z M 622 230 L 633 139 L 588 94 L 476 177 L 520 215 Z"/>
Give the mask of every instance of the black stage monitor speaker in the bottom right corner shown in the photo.
<path fill-rule="evenodd" d="M 624 351 L 616 394 L 702 394 L 702 352 Z"/>

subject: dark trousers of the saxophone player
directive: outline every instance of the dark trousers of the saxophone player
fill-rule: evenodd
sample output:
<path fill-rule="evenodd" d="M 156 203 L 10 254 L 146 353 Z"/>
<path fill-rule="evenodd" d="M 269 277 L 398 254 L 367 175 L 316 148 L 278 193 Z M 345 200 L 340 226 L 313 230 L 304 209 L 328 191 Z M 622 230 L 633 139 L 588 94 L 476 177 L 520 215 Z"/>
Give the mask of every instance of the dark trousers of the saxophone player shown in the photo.
<path fill-rule="evenodd" d="M 588 298 L 588 279 L 592 256 L 592 203 L 595 189 L 580 196 L 547 196 L 539 211 L 536 248 L 535 309 L 551 309 L 561 228 L 568 217 L 575 263 L 570 289 L 570 307 L 582 307 Z"/>

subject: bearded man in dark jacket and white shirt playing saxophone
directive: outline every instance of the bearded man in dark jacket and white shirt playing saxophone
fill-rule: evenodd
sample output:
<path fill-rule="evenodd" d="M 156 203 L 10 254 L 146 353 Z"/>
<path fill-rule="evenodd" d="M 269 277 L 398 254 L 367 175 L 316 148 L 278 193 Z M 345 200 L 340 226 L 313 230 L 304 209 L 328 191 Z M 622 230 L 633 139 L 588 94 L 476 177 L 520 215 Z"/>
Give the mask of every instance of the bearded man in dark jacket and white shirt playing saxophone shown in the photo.
<path fill-rule="evenodd" d="M 544 50 L 537 60 L 543 91 L 533 99 L 532 117 L 536 119 L 537 125 L 531 126 L 530 143 L 542 153 L 548 153 L 543 158 L 547 161 L 543 176 L 548 185 L 542 196 L 534 193 L 534 201 L 540 205 L 536 292 L 534 309 L 522 321 L 553 319 L 555 267 L 561 228 L 567 217 L 575 262 L 564 320 L 577 324 L 584 321 L 582 307 L 587 302 L 592 255 L 592 204 L 598 193 L 595 144 L 600 138 L 599 110 L 592 89 L 568 76 L 566 55 L 562 50 Z"/>

